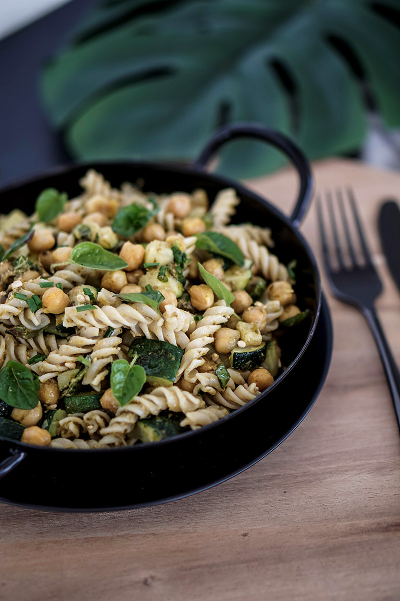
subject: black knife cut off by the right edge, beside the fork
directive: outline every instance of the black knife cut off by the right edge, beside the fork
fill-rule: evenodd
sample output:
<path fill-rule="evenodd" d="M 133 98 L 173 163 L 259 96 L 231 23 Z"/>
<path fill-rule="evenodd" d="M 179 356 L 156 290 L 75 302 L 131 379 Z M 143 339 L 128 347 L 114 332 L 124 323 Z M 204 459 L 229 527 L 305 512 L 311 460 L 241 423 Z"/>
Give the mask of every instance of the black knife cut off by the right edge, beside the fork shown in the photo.
<path fill-rule="evenodd" d="M 400 208 L 396 201 L 387 200 L 381 206 L 378 230 L 387 266 L 400 290 Z"/>

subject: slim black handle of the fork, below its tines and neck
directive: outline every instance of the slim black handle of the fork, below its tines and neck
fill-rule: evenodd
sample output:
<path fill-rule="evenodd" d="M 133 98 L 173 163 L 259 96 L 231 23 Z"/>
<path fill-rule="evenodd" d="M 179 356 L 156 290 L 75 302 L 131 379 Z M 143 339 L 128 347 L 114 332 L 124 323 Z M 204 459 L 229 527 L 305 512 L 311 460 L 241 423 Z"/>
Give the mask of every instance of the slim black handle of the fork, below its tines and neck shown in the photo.
<path fill-rule="evenodd" d="M 364 307 L 363 316 L 371 328 L 372 335 L 378 347 L 390 394 L 392 395 L 393 407 L 395 407 L 397 425 L 400 430 L 400 371 L 387 343 L 381 322 L 374 307 Z"/>

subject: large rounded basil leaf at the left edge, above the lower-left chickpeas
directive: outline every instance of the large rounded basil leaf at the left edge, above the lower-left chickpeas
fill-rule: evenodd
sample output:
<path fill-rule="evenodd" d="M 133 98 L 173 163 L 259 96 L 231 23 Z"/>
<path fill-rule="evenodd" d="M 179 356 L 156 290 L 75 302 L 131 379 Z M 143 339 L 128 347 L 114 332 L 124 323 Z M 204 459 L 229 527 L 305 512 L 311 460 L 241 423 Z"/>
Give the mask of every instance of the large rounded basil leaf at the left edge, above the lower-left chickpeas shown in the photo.
<path fill-rule="evenodd" d="M 0 371 L 0 398 L 11 407 L 34 409 L 39 402 L 39 379 L 28 367 L 8 361 Z"/>

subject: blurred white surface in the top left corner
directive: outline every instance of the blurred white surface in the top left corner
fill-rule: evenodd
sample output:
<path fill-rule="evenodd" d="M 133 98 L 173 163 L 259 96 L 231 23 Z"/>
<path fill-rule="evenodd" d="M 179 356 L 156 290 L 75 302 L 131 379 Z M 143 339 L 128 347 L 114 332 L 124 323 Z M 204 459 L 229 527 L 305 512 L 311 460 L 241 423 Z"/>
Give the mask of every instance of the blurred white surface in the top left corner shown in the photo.
<path fill-rule="evenodd" d="M 0 38 L 17 31 L 70 0 L 0 0 Z"/>

